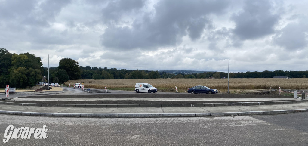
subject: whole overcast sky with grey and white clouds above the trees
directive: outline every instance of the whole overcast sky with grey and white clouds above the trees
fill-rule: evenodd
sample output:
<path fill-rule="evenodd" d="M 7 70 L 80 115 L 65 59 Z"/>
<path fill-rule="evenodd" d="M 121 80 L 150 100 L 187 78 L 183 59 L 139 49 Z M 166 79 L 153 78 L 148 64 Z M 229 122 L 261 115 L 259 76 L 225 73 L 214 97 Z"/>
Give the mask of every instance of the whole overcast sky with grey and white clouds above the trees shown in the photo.
<path fill-rule="evenodd" d="M 0 0 L 0 47 L 44 66 L 306 71 L 304 0 Z"/>

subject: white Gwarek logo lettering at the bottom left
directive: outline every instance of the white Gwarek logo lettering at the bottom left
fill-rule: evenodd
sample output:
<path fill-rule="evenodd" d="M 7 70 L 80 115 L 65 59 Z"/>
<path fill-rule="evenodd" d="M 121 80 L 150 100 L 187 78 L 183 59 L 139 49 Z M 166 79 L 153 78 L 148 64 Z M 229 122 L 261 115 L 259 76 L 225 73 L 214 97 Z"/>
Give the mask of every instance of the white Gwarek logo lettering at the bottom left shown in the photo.
<path fill-rule="evenodd" d="M 34 133 L 34 139 L 45 139 L 47 138 L 47 131 L 46 125 L 43 125 L 43 128 L 29 128 L 29 127 L 21 127 L 21 128 L 15 128 L 14 130 L 13 125 L 9 125 L 5 132 L 4 132 L 4 138 L 3 142 L 6 143 L 10 139 L 18 139 L 19 137 L 21 139 L 30 139 L 32 133 Z"/>

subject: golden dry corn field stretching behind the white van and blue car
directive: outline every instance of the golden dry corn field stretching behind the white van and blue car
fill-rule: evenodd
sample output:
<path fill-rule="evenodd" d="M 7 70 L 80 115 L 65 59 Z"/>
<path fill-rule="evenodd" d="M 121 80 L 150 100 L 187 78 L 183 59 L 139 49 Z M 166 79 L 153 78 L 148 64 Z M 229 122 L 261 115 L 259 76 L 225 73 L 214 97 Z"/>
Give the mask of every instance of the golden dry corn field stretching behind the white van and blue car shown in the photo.
<path fill-rule="evenodd" d="M 69 80 L 65 85 L 74 83 L 83 83 L 85 88 L 104 89 L 121 89 L 131 88 L 135 90 L 136 83 L 149 83 L 153 87 L 160 89 L 174 89 L 187 91 L 187 88 L 203 85 L 219 91 L 228 89 L 228 79 L 109 79 L 109 80 L 94 80 L 94 79 L 79 79 Z M 272 87 L 271 87 L 272 86 Z M 294 79 L 277 79 L 277 78 L 254 78 L 254 79 L 229 79 L 230 90 L 234 89 L 308 89 L 308 78 Z"/>

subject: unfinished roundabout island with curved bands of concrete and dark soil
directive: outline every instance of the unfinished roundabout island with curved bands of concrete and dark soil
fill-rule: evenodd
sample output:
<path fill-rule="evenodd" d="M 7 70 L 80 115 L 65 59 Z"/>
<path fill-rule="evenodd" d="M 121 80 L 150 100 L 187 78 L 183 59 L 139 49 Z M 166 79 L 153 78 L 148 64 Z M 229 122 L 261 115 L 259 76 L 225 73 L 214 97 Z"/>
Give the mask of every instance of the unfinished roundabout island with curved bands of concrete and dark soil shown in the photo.
<path fill-rule="evenodd" d="M 63 88 L 52 95 L 24 95 L 0 101 L 0 113 L 63 117 L 195 117 L 269 115 L 308 111 L 306 99 L 282 95 L 87 93 Z"/>

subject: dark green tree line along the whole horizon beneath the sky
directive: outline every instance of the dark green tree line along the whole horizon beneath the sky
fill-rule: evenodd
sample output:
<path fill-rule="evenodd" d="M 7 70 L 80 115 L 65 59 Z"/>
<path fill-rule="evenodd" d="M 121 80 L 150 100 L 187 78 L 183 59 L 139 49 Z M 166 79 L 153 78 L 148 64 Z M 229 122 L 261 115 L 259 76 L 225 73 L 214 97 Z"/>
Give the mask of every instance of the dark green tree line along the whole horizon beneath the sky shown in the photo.
<path fill-rule="evenodd" d="M 45 77 L 43 77 L 43 75 Z M 274 76 L 287 76 L 289 78 L 306 78 L 308 71 L 254 71 L 230 73 L 229 78 L 273 78 Z M 74 59 L 64 58 L 59 61 L 58 67 L 49 68 L 49 81 L 64 83 L 75 79 L 158 79 L 158 78 L 228 78 L 225 72 L 203 72 L 178 74 L 166 71 L 126 70 L 116 68 L 101 68 L 79 66 Z M 36 82 L 35 82 L 36 81 Z M 48 82 L 48 68 L 43 67 L 41 58 L 30 53 L 10 53 L 0 48 L 0 88 L 32 87 L 39 82 Z"/>

